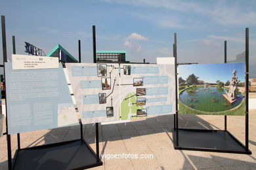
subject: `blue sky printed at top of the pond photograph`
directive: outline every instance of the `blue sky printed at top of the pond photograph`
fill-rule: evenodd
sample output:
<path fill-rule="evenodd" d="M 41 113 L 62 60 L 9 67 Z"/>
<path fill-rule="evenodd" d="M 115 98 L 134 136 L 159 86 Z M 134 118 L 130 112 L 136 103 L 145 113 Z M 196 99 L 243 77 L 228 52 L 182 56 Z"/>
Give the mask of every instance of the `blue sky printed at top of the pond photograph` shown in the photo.
<path fill-rule="evenodd" d="M 217 80 L 226 82 L 231 81 L 232 71 L 236 70 L 236 76 L 240 82 L 245 82 L 245 64 L 244 63 L 218 63 L 218 64 L 193 64 L 179 65 L 179 77 L 184 80 L 189 75 L 198 76 L 198 80 L 204 82 L 216 83 Z"/>

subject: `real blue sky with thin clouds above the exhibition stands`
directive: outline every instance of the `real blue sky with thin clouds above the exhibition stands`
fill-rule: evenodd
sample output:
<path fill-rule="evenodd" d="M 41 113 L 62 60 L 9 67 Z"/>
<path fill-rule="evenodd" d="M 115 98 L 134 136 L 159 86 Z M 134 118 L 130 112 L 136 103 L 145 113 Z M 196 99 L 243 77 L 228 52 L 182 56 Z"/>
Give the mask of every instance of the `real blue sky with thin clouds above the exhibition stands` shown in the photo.
<path fill-rule="evenodd" d="M 97 50 L 126 50 L 129 61 L 145 58 L 156 63 L 157 57 L 173 56 L 177 33 L 179 62 L 223 63 L 224 40 L 228 60 L 236 59 L 245 50 L 249 27 L 250 65 L 256 65 L 255 9 L 253 0 L 28 0 L 2 1 L 0 6 L 6 17 L 9 58 L 15 35 L 17 54 L 25 54 L 24 41 L 46 54 L 59 43 L 75 58 L 80 39 L 82 61 L 93 62 L 91 35 L 96 25 Z"/>

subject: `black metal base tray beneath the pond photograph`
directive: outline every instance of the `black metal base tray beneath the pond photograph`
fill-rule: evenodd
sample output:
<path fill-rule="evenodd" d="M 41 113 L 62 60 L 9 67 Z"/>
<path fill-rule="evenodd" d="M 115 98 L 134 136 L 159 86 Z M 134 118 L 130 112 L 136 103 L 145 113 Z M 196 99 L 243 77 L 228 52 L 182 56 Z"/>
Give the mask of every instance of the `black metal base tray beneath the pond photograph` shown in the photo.
<path fill-rule="evenodd" d="M 228 131 L 208 129 L 179 129 L 179 146 L 176 143 L 177 130 L 173 130 L 174 148 L 179 150 L 200 150 L 207 152 L 227 152 L 251 154 Z"/>

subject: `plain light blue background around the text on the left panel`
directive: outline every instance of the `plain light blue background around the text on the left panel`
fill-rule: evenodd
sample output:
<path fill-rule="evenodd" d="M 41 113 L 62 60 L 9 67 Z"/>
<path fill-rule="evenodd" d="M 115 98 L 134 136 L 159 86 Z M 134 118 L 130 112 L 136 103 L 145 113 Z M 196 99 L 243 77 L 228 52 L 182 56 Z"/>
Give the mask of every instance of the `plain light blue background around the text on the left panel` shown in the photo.
<path fill-rule="evenodd" d="M 9 73 L 38 73 L 37 76 L 40 76 L 41 73 L 54 71 L 58 74 L 58 96 L 57 97 L 33 97 L 33 98 L 26 98 L 20 100 L 11 100 L 9 88 L 10 88 L 10 80 L 9 80 Z M 42 129 L 50 129 L 54 127 L 58 127 L 58 104 L 59 103 L 71 103 L 72 98 L 70 95 L 70 91 L 68 89 L 68 83 L 66 82 L 66 78 L 64 76 L 64 71 L 62 68 L 62 64 L 59 64 L 58 69 L 31 69 L 31 70 L 12 70 L 12 63 L 5 63 L 5 75 L 6 75 L 6 93 L 7 93 L 7 114 L 8 114 L 8 133 L 21 133 L 26 131 L 36 131 Z M 31 78 L 31 77 L 28 77 Z M 26 83 L 29 81 L 24 79 L 22 80 Z M 49 88 L 49 86 L 40 86 L 40 88 Z M 33 89 L 32 89 L 33 90 Z M 24 92 L 24 95 L 27 92 Z M 40 105 L 40 103 L 48 103 L 49 110 L 45 109 L 45 105 Z M 34 107 L 37 106 L 37 107 Z M 45 114 L 49 115 L 49 117 L 53 117 L 53 121 L 45 122 L 42 124 L 35 125 L 33 122 L 33 113 L 34 112 L 44 112 Z M 31 114 L 31 115 L 29 115 Z M 29 116 L 29 120 L 19 120 L 20 123 L 12 125 L 11 119 L 19 116 Z M 22 122 L 29 122 L 28 125 L 22 125 Z M 12 127 L 16 126 L 16 127 Z"/>

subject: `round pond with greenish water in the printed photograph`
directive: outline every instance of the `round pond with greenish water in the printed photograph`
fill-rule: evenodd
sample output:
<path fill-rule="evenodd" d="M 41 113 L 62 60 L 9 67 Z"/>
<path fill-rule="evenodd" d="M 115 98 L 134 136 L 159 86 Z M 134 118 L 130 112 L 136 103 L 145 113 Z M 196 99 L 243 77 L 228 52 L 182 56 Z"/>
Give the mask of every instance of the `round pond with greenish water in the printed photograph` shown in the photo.
<path fill-rule="evenodd" d="M 180 94 L 181 102 L 196 110 L 202 110 L 205 112 L 220 112 L 224 110 L 230 110 L 238 106 L 243 99 L 243 95 L 238 94 L 238 99 L 230 105 L 223 94 L 226 90 L 217 87 L 198 87 L 188 88 Z"/>

